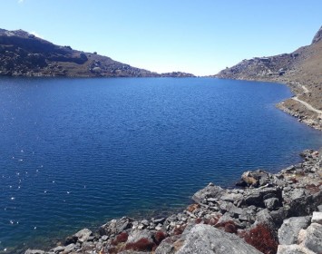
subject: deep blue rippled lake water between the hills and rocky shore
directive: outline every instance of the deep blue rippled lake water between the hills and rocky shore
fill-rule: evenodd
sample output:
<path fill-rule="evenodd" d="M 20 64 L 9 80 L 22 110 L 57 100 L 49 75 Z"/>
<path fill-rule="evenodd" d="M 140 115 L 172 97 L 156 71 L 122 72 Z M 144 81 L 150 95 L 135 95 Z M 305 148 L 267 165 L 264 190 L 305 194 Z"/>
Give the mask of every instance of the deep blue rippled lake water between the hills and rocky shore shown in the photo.
<path fill-rule="evenodd" d="M 203 78 L 1 78 L 0 249 L 181 209 L 210 181 L 298 162 L 322 135 L 275 108 L 289 96 Z"/>

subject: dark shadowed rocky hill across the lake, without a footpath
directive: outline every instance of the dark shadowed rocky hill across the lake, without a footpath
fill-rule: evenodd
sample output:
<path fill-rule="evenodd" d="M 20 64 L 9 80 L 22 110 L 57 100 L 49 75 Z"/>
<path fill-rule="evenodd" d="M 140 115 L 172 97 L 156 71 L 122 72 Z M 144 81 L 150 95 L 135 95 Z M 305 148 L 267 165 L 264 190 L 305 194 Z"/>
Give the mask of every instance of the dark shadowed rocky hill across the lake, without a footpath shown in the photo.
<path fill-rule="evenodd" d="M 192 77 L 190 73 L 152 73 L 110 57 L 59 46 L 23 30 L 0 29 L 0 76 Z"/>

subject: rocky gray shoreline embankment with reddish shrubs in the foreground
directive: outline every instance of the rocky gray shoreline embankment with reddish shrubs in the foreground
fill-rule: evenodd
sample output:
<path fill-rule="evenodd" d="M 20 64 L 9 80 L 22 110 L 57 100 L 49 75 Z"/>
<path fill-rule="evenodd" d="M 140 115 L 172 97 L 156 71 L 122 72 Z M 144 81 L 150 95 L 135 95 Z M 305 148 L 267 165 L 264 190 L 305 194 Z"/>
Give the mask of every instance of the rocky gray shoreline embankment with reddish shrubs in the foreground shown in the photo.
<path fill-rule="evenodd" d="M 277 174 L 245 172 L 239 189 L 210 183 L 186 210 L 168 218 L 111 220 L 62 246 L 25 254 L 321 253 L 321 151 L 301 156 L 301 163 Z"/>

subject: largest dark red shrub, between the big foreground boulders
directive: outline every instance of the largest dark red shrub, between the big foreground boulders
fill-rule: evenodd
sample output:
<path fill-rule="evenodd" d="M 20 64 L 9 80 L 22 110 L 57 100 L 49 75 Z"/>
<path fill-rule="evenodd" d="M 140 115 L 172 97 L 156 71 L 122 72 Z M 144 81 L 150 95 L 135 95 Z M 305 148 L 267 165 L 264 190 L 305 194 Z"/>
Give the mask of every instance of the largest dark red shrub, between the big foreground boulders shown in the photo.
<path fill-rule="evenodd" d="M 243 237 L 247 243 L 264 254 L 273 254 L 278 251 L 278 241 L 264 224 L 259 224 L 256 228 L 245 232 Z"/>

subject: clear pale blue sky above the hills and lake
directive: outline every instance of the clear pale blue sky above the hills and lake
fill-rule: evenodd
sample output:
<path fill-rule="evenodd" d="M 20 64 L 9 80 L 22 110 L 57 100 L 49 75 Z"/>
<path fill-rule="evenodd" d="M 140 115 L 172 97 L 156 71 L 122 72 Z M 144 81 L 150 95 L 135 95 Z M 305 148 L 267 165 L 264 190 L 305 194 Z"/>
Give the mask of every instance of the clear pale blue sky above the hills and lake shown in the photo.
<path fill-rule="evenodd" d="M 322 0 L 1 0 L 0 27 L 158 73 L 215 74 L 310 44 Z"/>

